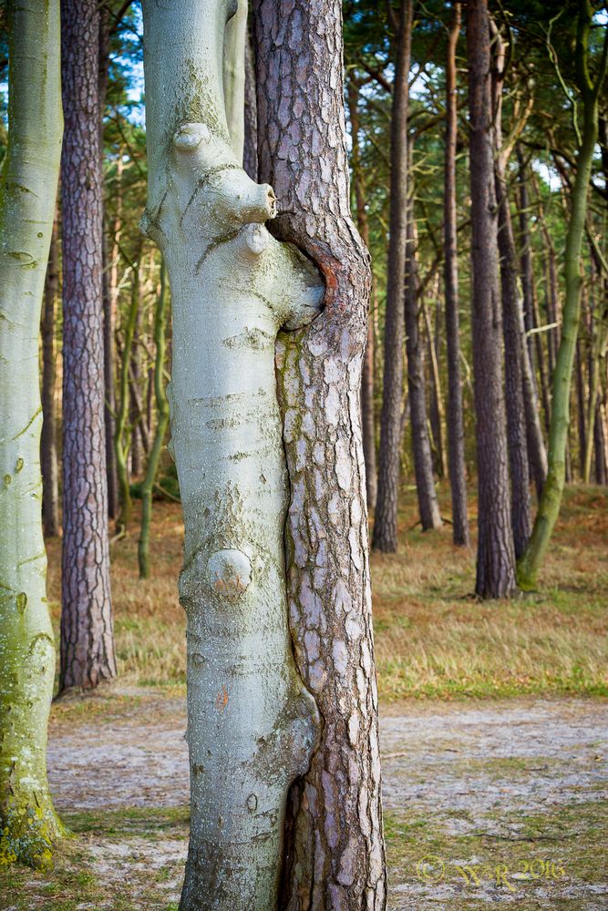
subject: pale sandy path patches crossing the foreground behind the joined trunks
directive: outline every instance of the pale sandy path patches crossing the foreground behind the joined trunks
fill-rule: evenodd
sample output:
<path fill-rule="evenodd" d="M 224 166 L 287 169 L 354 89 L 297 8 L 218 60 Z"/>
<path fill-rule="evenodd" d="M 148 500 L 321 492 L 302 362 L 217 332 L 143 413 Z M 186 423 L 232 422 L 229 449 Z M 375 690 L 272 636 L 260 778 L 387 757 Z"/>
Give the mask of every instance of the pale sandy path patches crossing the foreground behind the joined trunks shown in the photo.
<path fill-rule="evenodd" d="M 184 730 L 183 702 L 151 694 L 141 695 L 132 709 L 125 702 L 122 712 L 100 712 L 93 720 L 86 714 L 82 721 L 59 717 L 48 752 L 57 809 L 68 814 L 187 804 Z M 608 702 L 397 703 L 382 714 L 381 733 L 386 809 L 406 820 L 432 817 L 447 835 L 522 840 L 518 818 L 608 796 Z M 175 865 L 186 849 L 181 837 L 163 837 L 153 848 L 137 837 L 89 845 L 96 873 L 108 879 Z M 530 877 L 516 871 L 512 889 L 497 888 L 485 875 L 465 892 L 462 876 L 451 874 L 479 858 L 433 855 L 416 862 L 414 856 L 390 871 L 394 911 L 510 906 L 521 903 L 523 885 L 526 907 L 608 908 L 605 855 L 603 882 L 593 885 L 577 883 L 575 876 L 524 884 Z M 175 900 L 179 877 L 165 886 L 167 900 Z"/>

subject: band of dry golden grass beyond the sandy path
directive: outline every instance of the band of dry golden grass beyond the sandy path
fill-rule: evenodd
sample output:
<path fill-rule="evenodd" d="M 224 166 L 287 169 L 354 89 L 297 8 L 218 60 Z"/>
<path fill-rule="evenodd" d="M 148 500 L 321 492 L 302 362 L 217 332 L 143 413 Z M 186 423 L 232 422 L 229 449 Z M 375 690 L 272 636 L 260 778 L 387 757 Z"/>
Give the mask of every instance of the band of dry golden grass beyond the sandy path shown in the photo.
<path fill-rule="evenodd" d="M 440 495 L 448 512 L 448 490 Z M 608 495 L 566 492 L 562 521 L 537 594 L 478 603 L 474 552 L 454 548 L 451 529 L 422 534 L 416 497 L 404 495 L 400 552 L 374 555 L 380 692 L 406 696 L 506 696 L 524 692 L 608 694 Z M 182 684 L 185 618 L 176 593 L 180 507 L 155 505 L 152 578 L 137 571 L 137 527 L 112 550 L 119 670 L 135 684 Z M 59 547 L 49 544 L 49 597 L 58 619 Z"/>

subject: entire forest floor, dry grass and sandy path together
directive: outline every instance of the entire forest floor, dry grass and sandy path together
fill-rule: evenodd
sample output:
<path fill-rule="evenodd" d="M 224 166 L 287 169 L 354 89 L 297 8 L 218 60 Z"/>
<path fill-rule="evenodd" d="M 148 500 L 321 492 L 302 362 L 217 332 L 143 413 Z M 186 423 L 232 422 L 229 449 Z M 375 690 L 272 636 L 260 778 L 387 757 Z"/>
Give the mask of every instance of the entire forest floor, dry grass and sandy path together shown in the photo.
<path fill-rule="evenodd" d="M 570 488 L 541 590 L 494 604 L 469 597 L 474 554 L 449 527 L 421 534 L 405 500 L 401 552 L 372 561 L 389 906 L 606 908 L 608 496 Z M 177 909 L 180 548 L 167 504 L 155 505 L 153 578 L 137 578 L 136 531 L 113 548 L 120 679 L 52 713 L 49 774 L 76 837 L 54 871 L 0 872 L 3 911 Z M 51 542 L 56 620 L 58 555 Z"/>

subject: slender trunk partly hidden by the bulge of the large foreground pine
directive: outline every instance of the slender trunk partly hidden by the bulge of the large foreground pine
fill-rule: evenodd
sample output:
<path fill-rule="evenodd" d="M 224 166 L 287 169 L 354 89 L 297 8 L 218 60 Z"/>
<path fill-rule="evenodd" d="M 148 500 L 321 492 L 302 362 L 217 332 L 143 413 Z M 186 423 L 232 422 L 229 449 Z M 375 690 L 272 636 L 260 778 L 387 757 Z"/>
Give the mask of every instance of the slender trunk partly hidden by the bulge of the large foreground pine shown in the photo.
<path fill-rule="evenodd" d="M 366 179 L 361 167 L 359 149 L 359 111 L 358 89 L 351 78 L 346 88 L 348 100 L 348 114 L 351 126 L 351 163 L 353 168 L 353 183 L 355 185 L 356 223 L 361 238 L 369 249 L 369 224 L 366 210 Z M 373 281 L 373 279 L 372 279 Z M 374 418 L 374 326 L 371 320 L 367 321 L 366 356 L 363 362 L 363 376 L 361 383 L 361 413 L 363 427 L 363 452 L 366 460 L 366 493 L 367 507 L 376 508 L 377 495 L 377 469 L 376 469 L 376 421 Z"/>

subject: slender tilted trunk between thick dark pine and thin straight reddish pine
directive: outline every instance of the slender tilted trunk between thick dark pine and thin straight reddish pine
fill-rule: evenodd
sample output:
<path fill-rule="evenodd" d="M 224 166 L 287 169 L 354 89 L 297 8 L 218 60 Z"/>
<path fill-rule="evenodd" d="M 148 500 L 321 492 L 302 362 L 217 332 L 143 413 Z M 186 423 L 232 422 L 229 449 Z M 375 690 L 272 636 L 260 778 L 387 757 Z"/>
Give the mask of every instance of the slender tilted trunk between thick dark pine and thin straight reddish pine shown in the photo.
<path fill-rule="evenodd" d="M 416 475 L 418 511 L 422 530 L 441 526 L 441 515 L 435 477 L 433 455 L 430 450 L 427 418 L 427 390 L 425 385 L 423 343 L 418 325 L 419 282 L 417 274 L 417 239 L 414 225 L 414 202 L 407 205 L 407 255 L 406 255 L 406 349 L 407 349 L 407 391 L 409 393 L 410 426 L 412 431 L 412 455 Z"/>

